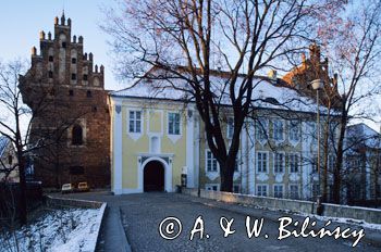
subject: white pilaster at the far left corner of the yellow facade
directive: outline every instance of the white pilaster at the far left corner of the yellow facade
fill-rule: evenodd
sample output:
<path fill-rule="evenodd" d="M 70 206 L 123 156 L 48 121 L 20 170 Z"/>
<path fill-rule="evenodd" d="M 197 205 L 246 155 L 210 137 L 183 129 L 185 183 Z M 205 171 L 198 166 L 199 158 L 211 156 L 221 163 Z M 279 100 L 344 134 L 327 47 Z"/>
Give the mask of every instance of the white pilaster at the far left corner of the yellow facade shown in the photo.
<path fill-rule="evenodd" d="M 122 150 L 122 139 L 123 139 L 123 122 L 122 122 L 122 106 L 115 104 L 113 113 L 113 189 L 115 194 L 122 194 L 122 181 L 123 181 L 123 150 Z"/>

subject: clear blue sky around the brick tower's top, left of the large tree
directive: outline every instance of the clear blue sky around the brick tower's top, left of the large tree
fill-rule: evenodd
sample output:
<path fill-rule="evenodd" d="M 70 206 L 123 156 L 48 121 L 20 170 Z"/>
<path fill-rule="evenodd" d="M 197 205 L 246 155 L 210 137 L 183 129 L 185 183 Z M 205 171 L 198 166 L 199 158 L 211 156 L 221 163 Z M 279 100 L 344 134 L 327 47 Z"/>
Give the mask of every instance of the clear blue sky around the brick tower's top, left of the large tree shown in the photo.
<path fill-rule="evenodd" d="M 30 61 L 30 49 L 39 53 L 39 32 L 53 33 L 54 16 L 72 18 L 72 35 L 84 37 L 85 52 L 93 52 L 95 63 L 106 67 L 106 88 L 120 89 L 113 78 L 108 36 L 99 28 L 103 14 L 101 7 L 112 0 L 8 0 L 0 3 L 0 60 L 22 58 Z"/>

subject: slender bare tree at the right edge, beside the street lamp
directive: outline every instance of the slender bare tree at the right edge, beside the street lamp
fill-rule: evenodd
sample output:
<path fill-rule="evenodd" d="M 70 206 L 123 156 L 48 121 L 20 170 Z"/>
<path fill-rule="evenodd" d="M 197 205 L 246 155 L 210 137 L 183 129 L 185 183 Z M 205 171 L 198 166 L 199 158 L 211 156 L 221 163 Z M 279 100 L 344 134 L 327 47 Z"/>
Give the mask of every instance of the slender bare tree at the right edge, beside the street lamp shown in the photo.
<path fill-rule="evenodd" d="M 380 92 L 377 83 L 381 53 L 381 2 L 354 2 L 335 25 L 321 26 L 321 42 L 336 74 L 341 92 L 336 162 L 333 171 L 333 200 L 340 203 L 346 128 L 351 119 L 370 118 L 372 97 Z M 373 97 L 374 98 L 374 97 Z M 368 104 L 368 105 L 365 105 Z"/>

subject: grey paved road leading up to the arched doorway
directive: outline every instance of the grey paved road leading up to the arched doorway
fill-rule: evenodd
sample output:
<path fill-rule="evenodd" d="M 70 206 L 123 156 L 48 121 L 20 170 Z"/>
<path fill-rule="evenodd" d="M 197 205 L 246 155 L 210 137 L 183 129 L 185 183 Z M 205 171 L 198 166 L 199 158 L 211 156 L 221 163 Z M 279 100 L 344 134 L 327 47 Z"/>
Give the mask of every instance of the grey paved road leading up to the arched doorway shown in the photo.
<path fill-rule="evenodd" d="M 109 196 L 107 193 L 82 193 L 69 197 L 108 202 L 109 209 L 121 212 L 120 217 L 132 251 L 381 251 L 380 244 L 371 245 L 362 239 L 356 248 L 354 240 L 319 238 L 287 238 L 279 241 L 279 217 L 284 214 L 226 204 L 212 200 L 199 199 L 175 193 L 139 193 Z M 246 216 L 251 219 L 263 217 L 263 229 L 258 238 L 248 239 Z M 182 232 L 176 239 L 165 240 L 159 234 L 160 223 L 175 216 L 182 222 Z M 201 216 L 205 225 L 204 239 L 197 232 L 190 241 L 190 231 L 195 220 Z M 232 229 L 235 232 L 223 237 L 220 218 L 234 218 Z M 303 217 L 294 216 L 294 220 Z M 118 245 L 121 231 L 115 228 L 114 219 L 110 225 L 102 225 L 101 241 L 97 251 L 122 251 Z M 253 224 L 253 223 L 251 223 Z M 322 223 L 318 224 L 322 225 Z M 331 227 L 336 225 L 331 225 Z M 354 228 L 354 227 L 353 227 Z M 358 230 L 359 227 L 356 227 Z M 164 230 L 164 229 L 163 229 Z M 175 228 L 177 230 L 177 228 Z M 368 236 L 369 230 L 366 231 Z M 208 238 L 207 238 L 208 235 Z M 268 235 L 268 238 L 265 237 Z M 381 236 L 381 234 L 376 234 Z M 110 239 L 111 237 L 111 239 Z M 367 235 L 366 235 L 367 237 Z M 108 249 L 113 248 L 113 249 Z M 115 249 L 116 248 L 116 249 Z"/>

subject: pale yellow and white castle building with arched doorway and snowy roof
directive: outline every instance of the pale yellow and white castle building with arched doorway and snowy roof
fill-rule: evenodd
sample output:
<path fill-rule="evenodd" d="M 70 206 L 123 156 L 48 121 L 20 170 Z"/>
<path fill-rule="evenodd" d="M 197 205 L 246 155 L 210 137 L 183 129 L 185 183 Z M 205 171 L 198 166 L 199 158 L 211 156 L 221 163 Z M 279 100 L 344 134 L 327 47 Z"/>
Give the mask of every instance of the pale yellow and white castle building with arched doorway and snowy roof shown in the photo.
<path fill-rule="evenodd" d="M 184 102 L 181 89 L 187 84 L 171 79 L 168 85 L 155 78 L 155 71 L 131 88 L 110 92 L 111 190 L 115 194 L 172 192 L 182 184 L 183 174 L 187 187 L 219 190 L 219 164 L 209 150 L 204 123 L 195 103 Z M 217 97 L 222 96 L 218 87 L 223 87 L 226 76 L 229 73 L 211 72 Z M 255 110 L 241 136 L 233 191 L 316 199 L 321 187 L 316 162 L 316 100 L 274 74 L 256 80 L 253 100 L 258 102 L 253 104 Z M 229 146 L 233 113 L 229 102 L 223 106 L 221 122 L 225 122 Z M 320 110 L 323 117 L 327 109 Z"/>

